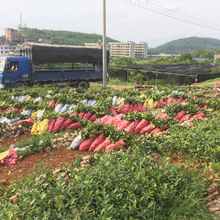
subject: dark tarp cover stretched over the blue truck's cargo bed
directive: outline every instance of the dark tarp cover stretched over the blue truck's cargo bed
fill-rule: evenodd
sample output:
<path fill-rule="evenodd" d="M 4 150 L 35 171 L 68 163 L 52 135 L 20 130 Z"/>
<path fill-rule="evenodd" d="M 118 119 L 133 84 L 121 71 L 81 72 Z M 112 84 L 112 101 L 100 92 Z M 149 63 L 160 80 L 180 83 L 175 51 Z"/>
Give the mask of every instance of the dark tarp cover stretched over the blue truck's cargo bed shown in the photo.
<path fill-rule="evenodd" d="M 21 50 L 27 46 L 32 49 L 32 62 L 36 65 L 43 63 L 74 63 L 97 62 L 102 63 L 102 50 L 98 48 L 24 44 Z"/>

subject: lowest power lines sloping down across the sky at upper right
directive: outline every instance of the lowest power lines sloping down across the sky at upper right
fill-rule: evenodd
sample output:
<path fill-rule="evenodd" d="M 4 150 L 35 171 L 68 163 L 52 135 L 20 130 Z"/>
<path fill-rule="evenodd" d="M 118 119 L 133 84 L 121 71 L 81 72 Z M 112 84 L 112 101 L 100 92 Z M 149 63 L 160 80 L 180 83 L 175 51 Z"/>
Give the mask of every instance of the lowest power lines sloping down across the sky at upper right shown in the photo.
<path fill-rule="evenodd" d="M 201 27 L 213 29 L 213 30 L 216 30 L 216 31 L 220 31 L 220 27 L 219 28 L 218 27 L 212 27 L 209 24 L 205 24 L 205 23 L 201 23 L 201 22 L 198 23 L 196 21 L 196 19 L 195 19 L 195 21 L 193 21 L 193 20 L 189 20 L 187 18 L 182 18 L 180 16 L 178 17 L 177 15 L 172 15 L 171 13 L 168 14 L 168 12 L 164 12 L 163 10 L 156 9 L 155 7 L 152 7 L 152 6 L 146 6 L 146 5 L 141 5 L 141 4 L 138 4 L 138 3 L 134 3 L 134 2 L 132 2 L 132 0 L 130 0 L 130 2 L 127 2 L 127 0 L 124 0 L 124 2 L 126 4 L 130 4 L 132 6 L 135 6 L 135 7 L 147 10 L 147 11 L 151 11 L 151 12 L 154 12 L 154 13 L 157 13 L 157 14 L 160 14 L 160 15 L 164 15 L 166 17 L 174 18 L 176 20 L 180 20 L 180 21 L 183 21 L 183 22 L 186 22 L 186 23 L 190 23 L 190 24 L 194 24 L 194 25 L 197 25 L 197 26 L 201 26 Z"/>

